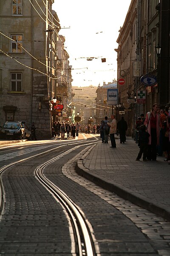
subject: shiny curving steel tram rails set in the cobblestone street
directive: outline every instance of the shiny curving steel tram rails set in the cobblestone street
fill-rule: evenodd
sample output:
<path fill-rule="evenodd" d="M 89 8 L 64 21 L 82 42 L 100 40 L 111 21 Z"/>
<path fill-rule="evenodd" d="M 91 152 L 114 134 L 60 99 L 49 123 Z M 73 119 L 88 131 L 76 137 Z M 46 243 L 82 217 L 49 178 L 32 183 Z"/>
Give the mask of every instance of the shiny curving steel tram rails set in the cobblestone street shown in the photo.
<path fill-rule="evenodd" d="M 96 142 L 97 143 L 97 142 Z M 71 145 L 72 143 L 69 143 Z M 76 143 L 74 142 L 74 145 Z M 69 215 L 70 222 L 72 224 L 72 229 L 74 232 L 74 246 L 72 248 L 72 251 L 74 250 L 73 255 L 79 255 L 79 256 L 96 256 L 95 252 L 95 246 L 93 241 L 93 236 L 91 235 L 91 230 L 88 227 L 88 224 L 85 220 L 85 217 L 82 215 L 82 213 L 79 211 L 78 207 L 74 202 L 66 195 L 64 192 L 62 192 L 61 189 L 59 189 L 54 183 L 51 182 L 51 180 L 48 180 L 45 175 L 43 174 L 43 170 L 45 167 L 47 167 L 49 164 L 51 164 L 54 161 L 59 160 L 62 157 L 65 157 L 67 154 L 71 153 L 72 151 L 76 150 L 80 146 L 85 145 L 91 145 L 94 144 L 94 142 L 84 143 L 81 145 L 76 145 L 75 147 L 64 151 L 62 154 L 59 154 L 57 157 L 54 157 L 45 163 L 41 164 L 37 167 L 34 174 L 36 178 L 39 180 L 39 182 L 50 192 L 55 200 L 59 202 L 62 207 L 64 207 L 65 211 Z M 62 148 L 65 145 L 60 145 L 56 149 Z M 27 160 L 31 160 L 35 157 L 39 157 L 43 154 L 48 154 L 50 151 L 54 151 L 54 148 L 44 151 L 39 154 L 35 154 L 34 156 L 26 157 L 22 160 L 16 161 L 14 163 L 10 163 L 3 168 L 0 169 L 0 175 L 5 172 L 9 167 L 17 165 L 18 163 L 22 163 Z M 1 185 L 1 184 L 0 184 Z M 0 210 L 3 210 L 3 188 L 2 185 L 0 186 Z M 73 241 L 72 241 L 73 243 Z M 99 254 L 98 254 L 99 255 Z"/>

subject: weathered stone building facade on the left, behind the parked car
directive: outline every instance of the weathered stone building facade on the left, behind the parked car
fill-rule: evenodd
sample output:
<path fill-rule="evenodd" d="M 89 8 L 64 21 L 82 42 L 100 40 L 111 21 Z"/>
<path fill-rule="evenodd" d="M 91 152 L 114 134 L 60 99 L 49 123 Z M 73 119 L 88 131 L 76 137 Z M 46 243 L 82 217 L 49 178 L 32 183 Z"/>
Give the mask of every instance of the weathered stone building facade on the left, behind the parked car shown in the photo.
<path fill-rule="evenodd" d="M 68 53 L 61 50 L 64 57 L 58 55 L 59 40 L 62 48 L 64 40 L 58 35 L 59 18 L 52 10 L 53 3 L 0 2 L 0 125 L 20 120 L 30 127 L 35 122 L 38 139 L 51 137 L 56 119 L 51 102 L 60 94 L 60 77 L 71 86 Z M 64 59 L 61 68 L 68 70 L 66 75 L 57 70 L 59 59 Z"/>

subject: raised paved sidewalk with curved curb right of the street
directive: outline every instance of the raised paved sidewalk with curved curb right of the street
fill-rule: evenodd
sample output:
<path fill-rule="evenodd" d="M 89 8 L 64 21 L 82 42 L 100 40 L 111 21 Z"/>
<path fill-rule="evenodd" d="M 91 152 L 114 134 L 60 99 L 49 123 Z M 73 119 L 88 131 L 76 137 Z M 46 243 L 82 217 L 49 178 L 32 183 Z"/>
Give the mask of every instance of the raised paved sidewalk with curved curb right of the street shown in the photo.
<path fill-rule="evenodd" d="M 77 173 L 104 189 L 144 207 L 170 221 L 170 165 L 157 161 L 136 161 L 139 147 L 127 137 L 116 148 L 98 143 L 77 162 Z"/>

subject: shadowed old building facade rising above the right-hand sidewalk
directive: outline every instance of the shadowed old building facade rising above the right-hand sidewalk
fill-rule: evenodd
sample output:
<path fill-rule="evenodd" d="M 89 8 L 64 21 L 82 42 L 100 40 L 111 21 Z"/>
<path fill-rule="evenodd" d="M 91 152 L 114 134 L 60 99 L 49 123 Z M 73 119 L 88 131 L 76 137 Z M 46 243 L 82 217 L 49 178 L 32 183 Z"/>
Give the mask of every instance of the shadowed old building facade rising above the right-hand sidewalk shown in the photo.
<path fill-rule="evenodd" d="M 118 85 L 119 99 L 127 106 L 125 119 L 128 134 L 132 136 L 135 121 L 141 113 L 150 111 L 155 102 L 162 107 L 169 101 L 170 22 L 165 24 L 165 13 L 169 20 L 170 1 L 132 0 L 117 39 L 118 78 L 125 79 L 123 86 Z M 161 45 L 161 50 L 164 48 L 159 57 L 156 54 L 158 45 Z M 165 55 L 166 63 L 163 61 Z M 157 83 L 152 86 L 143 84 L 143 76 L 156 77 Z M 143 100 L 139 101 L 139 96 L 144 96 Z M 133 103 L 128 106 L 127 102 Z"/>

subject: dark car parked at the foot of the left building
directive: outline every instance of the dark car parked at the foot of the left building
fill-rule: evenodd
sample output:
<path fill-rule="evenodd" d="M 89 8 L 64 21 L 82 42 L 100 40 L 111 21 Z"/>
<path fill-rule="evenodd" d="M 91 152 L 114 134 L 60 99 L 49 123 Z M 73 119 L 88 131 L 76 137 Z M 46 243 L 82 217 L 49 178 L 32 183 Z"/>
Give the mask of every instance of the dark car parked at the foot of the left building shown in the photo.
<path fill-rule="evenodd" d="M 0 131 L 0 138 L 30 140 L 31 139 L 31 131 L 28 129 L 25 122 L 6 121 Z"/>

